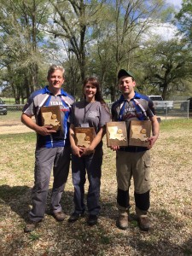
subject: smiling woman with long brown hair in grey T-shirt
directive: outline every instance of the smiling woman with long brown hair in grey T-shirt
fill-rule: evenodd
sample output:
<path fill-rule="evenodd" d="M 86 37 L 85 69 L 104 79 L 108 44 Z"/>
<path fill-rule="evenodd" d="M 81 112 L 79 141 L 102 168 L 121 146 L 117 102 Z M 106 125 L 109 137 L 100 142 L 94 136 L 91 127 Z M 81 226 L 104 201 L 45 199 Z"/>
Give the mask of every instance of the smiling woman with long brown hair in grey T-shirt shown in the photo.
<path fill-rule="evenodd" d="M 102 137 L 105 134 L 105 125 L 110 120 L 108 106 L 102 99 L 100 84 L 94 77 L 84 80 L 84 100 L 73 105 L 70 117 L 70 142 L 72 148 L 72 174 L 74 185 L 74 212 L 68 219 L 74 222 L 85 212 L 84 183 L 86 172 L 89 180 L 87 194 L 87 223 L 97 223 L 100 212 L 99 197 L 102 176 Z M 75 143 L 75 127 L 94 127 L 96 137 L 86 148 Z"/>

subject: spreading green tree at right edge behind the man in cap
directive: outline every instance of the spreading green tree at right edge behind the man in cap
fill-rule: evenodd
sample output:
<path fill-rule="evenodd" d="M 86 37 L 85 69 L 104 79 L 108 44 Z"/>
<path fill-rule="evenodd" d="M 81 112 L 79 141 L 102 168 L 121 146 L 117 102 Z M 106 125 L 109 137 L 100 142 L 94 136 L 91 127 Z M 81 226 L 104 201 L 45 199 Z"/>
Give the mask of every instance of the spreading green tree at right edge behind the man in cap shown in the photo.
<path fill-rule="evenodd" d="M 148 41 L 143 54 L 148 55 L 141 61 L 139 70 L 143 68 L 142 84 L 152 91 L 160 91 L 163 99 L 167 99 L 175 91 L 184 91 L 185 82 L 192 78 L 191 50 L 182 41 Z M 145 59 L 144 55 L 142 59 Z"/>

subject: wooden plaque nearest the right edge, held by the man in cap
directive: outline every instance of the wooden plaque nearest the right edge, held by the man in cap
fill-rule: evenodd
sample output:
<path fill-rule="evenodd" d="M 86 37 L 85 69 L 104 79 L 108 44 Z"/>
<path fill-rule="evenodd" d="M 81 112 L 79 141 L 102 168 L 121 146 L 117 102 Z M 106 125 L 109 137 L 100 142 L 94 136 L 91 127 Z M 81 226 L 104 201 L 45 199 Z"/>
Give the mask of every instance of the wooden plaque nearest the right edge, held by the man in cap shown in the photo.
<path fill-rule="evenodd" d="M 151 134 L 151 122 L 131 120 L 129 146 L 148 147 L 146 139 Z"/>

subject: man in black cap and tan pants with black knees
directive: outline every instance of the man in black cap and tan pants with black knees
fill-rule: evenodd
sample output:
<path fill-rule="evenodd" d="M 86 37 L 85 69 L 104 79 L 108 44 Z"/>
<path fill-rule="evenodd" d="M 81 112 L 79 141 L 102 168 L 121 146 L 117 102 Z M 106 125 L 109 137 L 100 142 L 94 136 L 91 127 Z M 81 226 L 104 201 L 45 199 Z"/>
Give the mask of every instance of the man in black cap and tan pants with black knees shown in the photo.
<path fill-rule="evenodd" d="M 111 147 L 116 151 L 117 207 L 119 209 L 117 226 L 122 230 L 128 227 L 129 187 L 131 177 L 133 177 L 137 223 L 141 230 L 147 231 L 149 230 L 147 213 L 150 205 L 150 154 L 148 149 L 153 147 L 159 136 L 160 128 L 154 113 L 153 102 L 148 96 L 139 94 L 134 90 L 136 82 L 133 75 L 125 69 L 120 69 L 118 79 L 119 90 L 122 95 L 112 105 L 113 121 L 125 121 L 128 132 L 131 120 L 149 119 L 152 125 L 152 136 L 148 138 L 148 148 L 136 146 Z"/>

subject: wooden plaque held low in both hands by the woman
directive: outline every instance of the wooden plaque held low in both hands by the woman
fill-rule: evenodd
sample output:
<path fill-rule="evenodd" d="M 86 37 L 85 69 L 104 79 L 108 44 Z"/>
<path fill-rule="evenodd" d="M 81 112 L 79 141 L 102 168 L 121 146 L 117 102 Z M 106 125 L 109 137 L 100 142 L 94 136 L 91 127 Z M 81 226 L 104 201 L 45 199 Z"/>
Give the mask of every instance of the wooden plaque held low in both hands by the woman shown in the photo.
<path fill-rule="evenodd" d="M 84 148 L 88 148 L 96 137 L 94 127 L 75 127 L 74 134 L 76 145 Z"/>

